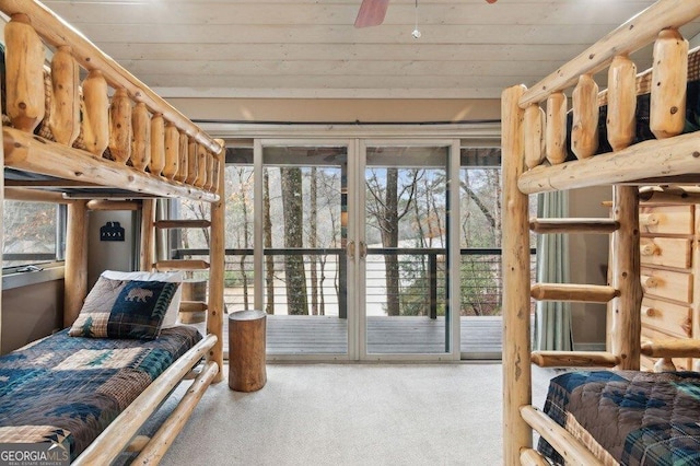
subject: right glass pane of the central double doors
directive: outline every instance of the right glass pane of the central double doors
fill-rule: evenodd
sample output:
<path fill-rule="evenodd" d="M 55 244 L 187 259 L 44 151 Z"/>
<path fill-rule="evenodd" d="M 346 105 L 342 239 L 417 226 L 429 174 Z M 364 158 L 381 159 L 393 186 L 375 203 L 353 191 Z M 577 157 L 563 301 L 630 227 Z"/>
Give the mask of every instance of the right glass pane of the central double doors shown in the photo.
<path fill-rule="evenodd" d="M 450 352 L 450 148 L 365 152 L 366 353 Z"/>

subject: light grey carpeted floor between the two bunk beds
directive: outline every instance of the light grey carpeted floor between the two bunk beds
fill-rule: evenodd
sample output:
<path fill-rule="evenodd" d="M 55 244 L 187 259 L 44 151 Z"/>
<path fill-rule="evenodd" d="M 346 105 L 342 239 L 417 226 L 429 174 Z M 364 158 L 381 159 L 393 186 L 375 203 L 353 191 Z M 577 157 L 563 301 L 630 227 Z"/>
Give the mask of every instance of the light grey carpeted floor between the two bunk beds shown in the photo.
<path fill-rule="evenodd" d="M 269 364 L 267 371 L 259 392 L 232 392 L 226 380 L 207 391 L 161 464 L 502 464 L 501 364 Z M 533 399 L 541 406 L 553 372 L 533 371 Z"/>

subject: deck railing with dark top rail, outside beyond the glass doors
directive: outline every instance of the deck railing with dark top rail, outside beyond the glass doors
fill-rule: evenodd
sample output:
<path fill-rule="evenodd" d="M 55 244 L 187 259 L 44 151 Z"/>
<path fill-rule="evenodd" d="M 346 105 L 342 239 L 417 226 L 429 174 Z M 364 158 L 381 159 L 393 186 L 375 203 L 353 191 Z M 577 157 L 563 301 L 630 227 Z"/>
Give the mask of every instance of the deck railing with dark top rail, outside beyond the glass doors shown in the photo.
<path fill-rule="evenodd" d="M 207 256 L 207 249 L 174 249 L 174 259 Z M 264 294 L 269 314 L 336 315 L 347 317 L 347 270 L 343 248 L 265 249 Z M 253 307 L 253 249 L 225 252 L 224 300 L 229 312 Z M 305 273 L 305 304 L 290 307 L 285 261 L 301 258 Z M 534 270 L 534 249 L 533 249 Z M 396 264 L 392 267 L 388 263 Z M 445 315 L 445 248 L 369 248 L 365 257 L 368 315 Z M 387 267 L 398 280 L 386 279 Z M 460 249 L 460 308 L 465 316 L 501 314 L 501 249 Z M 271 271 L 271 272 L 270 272 Z M 533 272 L 533 277 L 534 277 Z M 395 286 L 392 286 L 394 283 Z M 397 284 L 397 286 L 396 286 Z M 299 291 L 299 290 L 294 290 Z"/>

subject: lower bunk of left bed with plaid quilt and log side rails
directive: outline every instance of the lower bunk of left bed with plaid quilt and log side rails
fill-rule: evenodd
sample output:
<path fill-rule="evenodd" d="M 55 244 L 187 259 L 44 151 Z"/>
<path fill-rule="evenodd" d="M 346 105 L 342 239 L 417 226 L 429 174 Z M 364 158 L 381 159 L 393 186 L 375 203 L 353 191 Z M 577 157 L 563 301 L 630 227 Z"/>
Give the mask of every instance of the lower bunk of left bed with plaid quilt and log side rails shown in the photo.
<path fill-rule="evenodd" d="M 218 365 L 205 364 L 153 438 L 137 436 L 139 428 L 215 341 L 187 326 L 152 340 L 75 338 L 65 329 L 5 354 L 0 443 L 50 443 L 73 464 L 109 464 L 130 447 L 141 452 L 135 463 L 156 464 Z"/>

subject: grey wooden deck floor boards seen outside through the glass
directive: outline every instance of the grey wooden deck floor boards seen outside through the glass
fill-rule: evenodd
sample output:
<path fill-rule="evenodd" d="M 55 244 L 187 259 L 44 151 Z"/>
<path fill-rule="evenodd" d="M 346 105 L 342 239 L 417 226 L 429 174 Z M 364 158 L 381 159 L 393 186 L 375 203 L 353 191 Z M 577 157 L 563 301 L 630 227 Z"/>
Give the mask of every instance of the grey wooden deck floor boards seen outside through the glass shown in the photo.
<path fill-rule="evenodd" d="M 267 317 L 268 354 L 345 354 L 348 322 L 335 316 Z M 462 353 L 466 359 L 501 358 L 501 317 L 462 317 Z M 228 333 L 228 322 L 224 331 Z M 203 329 L 203 325 L 202 328 Z M 443 317 L 368 317 L 368 352 L 443 353 Z M 229 338 L 224 336 L 224 354 Z"/>

